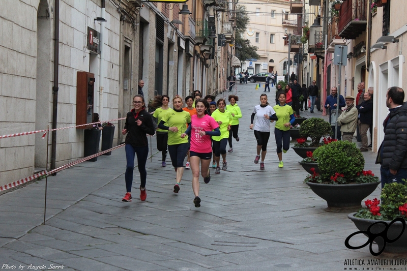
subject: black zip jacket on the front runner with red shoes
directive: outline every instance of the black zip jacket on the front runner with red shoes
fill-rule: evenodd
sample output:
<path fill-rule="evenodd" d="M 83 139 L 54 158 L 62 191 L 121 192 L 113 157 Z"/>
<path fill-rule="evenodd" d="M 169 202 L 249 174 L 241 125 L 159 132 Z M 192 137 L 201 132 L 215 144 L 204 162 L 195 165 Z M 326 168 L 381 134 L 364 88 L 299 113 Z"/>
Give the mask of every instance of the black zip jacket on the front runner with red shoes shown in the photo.
<path fill-rule="evenodd" d="M 140 119 L 141 125 L 138 126 L 136 121 Z M 131 109 L 127 113 L 126 124 L 124 129 L 127 130 L 126 144 L 130 144 L 133 147 L 144 147 L 149 145 L 147 135 L 154 135 L 153 120 L 145 109 L 136 113 L 134 109 Z"/>

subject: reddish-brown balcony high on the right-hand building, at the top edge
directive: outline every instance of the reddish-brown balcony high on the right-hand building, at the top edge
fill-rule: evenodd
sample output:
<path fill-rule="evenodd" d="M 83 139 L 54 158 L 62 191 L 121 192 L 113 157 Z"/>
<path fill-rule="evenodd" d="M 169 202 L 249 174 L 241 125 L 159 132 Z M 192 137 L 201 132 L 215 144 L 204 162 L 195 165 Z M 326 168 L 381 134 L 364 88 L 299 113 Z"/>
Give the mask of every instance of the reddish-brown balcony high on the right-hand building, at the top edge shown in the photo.
<path fill-rule="evenodd" d="M 347 40 L 356 39 L 366 31 L 367 15 L 367 0 L 342 2 L 338 21 L 339 36 Z"/>

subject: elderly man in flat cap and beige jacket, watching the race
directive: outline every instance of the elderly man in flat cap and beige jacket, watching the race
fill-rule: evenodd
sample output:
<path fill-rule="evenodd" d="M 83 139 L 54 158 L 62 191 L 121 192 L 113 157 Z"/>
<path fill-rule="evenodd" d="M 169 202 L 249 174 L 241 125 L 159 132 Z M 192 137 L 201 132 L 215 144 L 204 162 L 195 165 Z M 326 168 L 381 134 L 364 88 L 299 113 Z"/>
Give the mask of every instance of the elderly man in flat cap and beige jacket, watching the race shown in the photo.
<path fill-rule="evenodd" d="M 358 123 L 358 109 L 355 107 L 355 97 L 345 97 L 346 109 L 338 117 L 338 125 L 342 132 L 342 140 L 352 142 Z"/>

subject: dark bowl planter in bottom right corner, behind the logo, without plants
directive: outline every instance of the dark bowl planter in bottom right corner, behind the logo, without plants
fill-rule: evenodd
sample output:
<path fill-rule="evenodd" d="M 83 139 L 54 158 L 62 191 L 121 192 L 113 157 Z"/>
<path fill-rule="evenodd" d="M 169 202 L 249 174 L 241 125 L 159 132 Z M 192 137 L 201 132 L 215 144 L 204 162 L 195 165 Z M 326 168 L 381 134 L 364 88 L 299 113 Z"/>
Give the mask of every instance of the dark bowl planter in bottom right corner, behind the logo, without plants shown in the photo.
<path fill-rule="evenodd" d="M 357 217 L 355 217 L 355 214 L 356 213 L 349 214 L 347 216 L 347 218 L 352 220 L 352 222 L 355 223 L 355 226 L 359 230 L 367 231 L 367 228 L 370 225 L 372 225 L 375 222 L 379 222 L 379 221 L 385 222 L 388 225 L 391 223 L 391 221 L 357 218 Z M 371 233 L 381 233 L 381 232 L 384 232 L 385 228 L 386 228 L 386 225 L 383 223 L 376 224 L 370 228 L 370 232 Z M 403 229 L 403 225 L 400 221 L 394 222 L 391 225 L 391 227 L 388 228 L 387 237 L 390 240 L 396 238 L 398 235 L 400 235 L 402 229 Z M 367 238 L 366 238 L 366 241 L 367 241 Z M 350 242 L 352 242 L 352 238 L 351 238 Z M 379 246 L 379 250 L 373 249 L 373 251 L 380 252 L 384 246 L 383 238 L 375 238 L 374 242 L 376 242 L 377 246 Z M 360 244 L 360 245 L 362 245 L 362 244 Z M 367 246 L 369 246 L 369 244 Z M 397 241 L 395 241 L 394 243 L 386 243 L 386 248 L 384 249 L 382 256 L 385 256 L 386 253 L 402 255 L 402 256 L 407 255 L 407 229 L 404 229 L 404 232 L 401 234 L 400 238 Z M 387 258 L 390 258 L 389 257 L 390 255 L 386 255 L 386 256 L 388 256 Z"/>

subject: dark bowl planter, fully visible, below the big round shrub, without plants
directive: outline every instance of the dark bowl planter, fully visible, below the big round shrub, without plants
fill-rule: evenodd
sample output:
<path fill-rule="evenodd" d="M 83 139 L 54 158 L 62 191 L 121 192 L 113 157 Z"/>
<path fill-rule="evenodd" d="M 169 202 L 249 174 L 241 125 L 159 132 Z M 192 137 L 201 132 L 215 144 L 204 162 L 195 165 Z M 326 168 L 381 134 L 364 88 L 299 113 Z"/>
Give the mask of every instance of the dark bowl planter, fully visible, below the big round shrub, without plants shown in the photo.
<path fill-rule="evenodd" d="M 311 190 L 328 203 L 328 212 L 355 212 L 362 205 L 361 201 L 370 195 L 379 185 L 377 183 L 328 185 L 307 183 Z"/>

